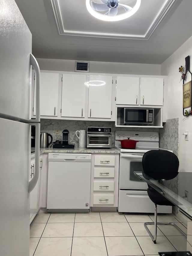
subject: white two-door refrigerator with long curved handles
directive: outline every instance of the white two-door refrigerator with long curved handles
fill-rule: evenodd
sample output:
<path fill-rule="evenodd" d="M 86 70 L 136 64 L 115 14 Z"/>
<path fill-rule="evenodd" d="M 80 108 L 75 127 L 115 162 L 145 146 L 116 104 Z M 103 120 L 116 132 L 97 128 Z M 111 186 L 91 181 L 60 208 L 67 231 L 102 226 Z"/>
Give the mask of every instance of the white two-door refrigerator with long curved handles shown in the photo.
<path fill-rule="evenodd" d="M 29 192 L 39 176 L 40 70 L 32 35 L 14 0 L 0 0 L 0 255 L 29 255 Z M 31 120 L 31 71 L 36 119 Z M 29 182 L 31 125 L 36 125 L 35 175 Z"/>

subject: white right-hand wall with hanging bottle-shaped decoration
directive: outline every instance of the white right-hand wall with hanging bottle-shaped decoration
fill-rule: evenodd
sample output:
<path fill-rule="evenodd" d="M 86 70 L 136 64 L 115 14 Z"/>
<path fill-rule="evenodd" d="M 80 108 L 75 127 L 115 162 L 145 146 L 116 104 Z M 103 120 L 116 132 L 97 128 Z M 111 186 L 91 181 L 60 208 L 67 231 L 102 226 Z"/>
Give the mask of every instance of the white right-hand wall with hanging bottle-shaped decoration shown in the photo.
<path fill-rule="evenodd" d="M 192 116 L 183 116 L 183 81 L 179 67 L 185 66 L 185 57 L 192 56 L 192 37 L 190 37 L 175 53 L 161 65 L 161 75 L 168 75 L 168 104 L 167 119 L 179 117 L 179 162 L 181 171 L 192 171 Z M 192 58 L 191 58 L 192 63 Z M 192 65 L 191 65 L 192 66 Z M 192 71 L 192 70 L 191 70 Z M 187 72 L 185 83 L 191 81 L 191 74 Z M 189 109 L 189 108 L 188 108 Z M 184 119 L 184 120 L 183 120 Z M 189 141 L 182 135 L 189 131 Z M 171 131 L 170 131 L 171 136 Z"/>

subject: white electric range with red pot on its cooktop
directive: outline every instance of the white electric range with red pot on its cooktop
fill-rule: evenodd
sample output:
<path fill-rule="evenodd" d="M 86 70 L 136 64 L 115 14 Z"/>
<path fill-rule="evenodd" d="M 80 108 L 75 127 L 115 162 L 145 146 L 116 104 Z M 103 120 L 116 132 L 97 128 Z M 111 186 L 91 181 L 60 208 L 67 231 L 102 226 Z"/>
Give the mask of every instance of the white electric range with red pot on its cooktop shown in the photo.
<path fill-rule="evenodd" d="M 119 140 L 138 140 L 135 149 L 123 149 Z M 115 148 L 120 150 L 119 158 L 119 212 L 154 212 L 154 203 L 147 194 L 147 183 L 139 180 L 134 172 L 142 172 L 142 158 L 149 150 L 159 148 L 158 132 L 116 131 Z M 171 213 L 172 206 L 158 206 L 158 212 Z"/>

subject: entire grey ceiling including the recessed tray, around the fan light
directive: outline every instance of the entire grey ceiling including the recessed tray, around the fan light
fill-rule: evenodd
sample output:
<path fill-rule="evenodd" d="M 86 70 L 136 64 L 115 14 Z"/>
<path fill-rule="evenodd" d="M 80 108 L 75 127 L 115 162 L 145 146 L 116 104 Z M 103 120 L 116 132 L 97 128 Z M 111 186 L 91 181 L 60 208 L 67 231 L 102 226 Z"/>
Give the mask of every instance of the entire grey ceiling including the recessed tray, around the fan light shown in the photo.
<path fill-rule="evenodd" d="M 192 35 L 191 0 L 141 0 L 136 14 L 116 22 L 93 17 L 85 0 L 15 1 L 36 58 L 161 64 Z"/>

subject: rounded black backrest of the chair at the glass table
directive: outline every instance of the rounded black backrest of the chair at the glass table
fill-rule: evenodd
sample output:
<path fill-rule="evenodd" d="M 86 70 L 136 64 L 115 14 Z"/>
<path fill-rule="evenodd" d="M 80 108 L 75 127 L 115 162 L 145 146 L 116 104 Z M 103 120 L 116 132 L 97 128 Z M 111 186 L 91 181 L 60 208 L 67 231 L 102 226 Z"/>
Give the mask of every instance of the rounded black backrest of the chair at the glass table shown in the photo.
<path fill-rule="evenodd" d="M 150 150 L 143 155 L 143 176 L 153 179 L 173 179 L 178 175 L 179 159 L 167 150 Z"/>

